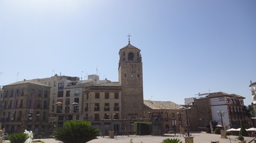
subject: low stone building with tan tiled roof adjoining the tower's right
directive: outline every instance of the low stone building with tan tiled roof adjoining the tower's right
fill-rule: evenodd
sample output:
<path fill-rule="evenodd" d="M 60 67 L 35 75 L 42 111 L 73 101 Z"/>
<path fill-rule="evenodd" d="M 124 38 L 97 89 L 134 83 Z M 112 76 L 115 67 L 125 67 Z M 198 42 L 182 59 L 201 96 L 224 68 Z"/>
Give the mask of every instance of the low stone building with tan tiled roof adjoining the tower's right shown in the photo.
<path fill-rule="evenodd" d="M 182 105 L 171 101 L 144 100 L 143 111 L 144 117 L 152 122 L 152 135 L 164 135 L 164 133 L 179 133 L 180 128 L 186 128 L 185 109 Z M 154 125 L 155 121 L 158 123 Z"/>

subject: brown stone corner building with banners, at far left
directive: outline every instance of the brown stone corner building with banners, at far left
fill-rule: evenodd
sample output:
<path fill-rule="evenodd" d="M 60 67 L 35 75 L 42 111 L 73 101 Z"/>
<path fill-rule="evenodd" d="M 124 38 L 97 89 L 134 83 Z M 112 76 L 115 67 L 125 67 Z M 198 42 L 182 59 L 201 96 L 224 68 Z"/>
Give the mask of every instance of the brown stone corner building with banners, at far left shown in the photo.
<path fill-rule="evenodd" d="M 1 120 L 5 132 L 33 129 L 35 135 L 47 134 L 50 86 L 24 80 L 5 85 L 3 89 Z"/>

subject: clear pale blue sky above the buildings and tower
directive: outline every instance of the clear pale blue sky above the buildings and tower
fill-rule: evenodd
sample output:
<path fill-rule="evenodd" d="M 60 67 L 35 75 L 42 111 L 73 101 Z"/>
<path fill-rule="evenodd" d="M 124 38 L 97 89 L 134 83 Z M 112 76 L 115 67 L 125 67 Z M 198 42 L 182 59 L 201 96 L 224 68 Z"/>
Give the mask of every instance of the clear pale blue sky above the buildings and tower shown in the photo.
<path fill-rule="evenodd" d="M 141 49 L 144 100 L 198 93 L 252 102 L 256 1 L 0 1 L 0 85 L 54 74 L 118 81 L 119 49 Z"/>

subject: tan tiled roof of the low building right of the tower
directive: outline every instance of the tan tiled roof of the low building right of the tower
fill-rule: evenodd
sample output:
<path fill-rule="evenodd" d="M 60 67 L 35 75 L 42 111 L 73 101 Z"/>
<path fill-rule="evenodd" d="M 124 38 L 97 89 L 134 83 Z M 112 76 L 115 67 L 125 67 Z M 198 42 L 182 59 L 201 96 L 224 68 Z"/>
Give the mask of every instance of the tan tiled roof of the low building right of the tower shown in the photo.
<path fill-rule="evenodd" d="M 182 105 L 176 104 L 171 101 L 150 101 L 144 100 L 144 106 L 146 108 L 155 109 L 155 110 L 179 110 Z"/>

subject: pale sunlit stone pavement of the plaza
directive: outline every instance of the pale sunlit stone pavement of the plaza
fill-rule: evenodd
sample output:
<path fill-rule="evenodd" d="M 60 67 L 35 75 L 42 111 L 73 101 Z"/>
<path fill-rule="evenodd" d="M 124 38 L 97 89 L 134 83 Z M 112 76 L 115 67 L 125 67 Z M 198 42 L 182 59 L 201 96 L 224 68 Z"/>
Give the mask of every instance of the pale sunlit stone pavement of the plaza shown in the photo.
<path fill-rule="evenodd" d="M 215 135 L 205 132 L 192 132 L 192 136 L 194 137 L 194 143 L 210 143 L 211 141 L 219 141 L 219 143 L 230 143 L 230 140 L 227 138 L 221 138 L 221 135 Z M 177 134 L 179 135 L 179 134 Z M 94 139 L 92 141 L 89 141 L 88 143 L 129 143 L 130 139 L 132 139 L 133 143 L 161 143 L 162 140 L 166 138 L 178 138 L 183 143 L 185 143 L 185 139 L 183 135 L 175 136 L 174 134 L 165 134 L 164 136 L 136 136 L 136 135 L 130 135 L 130 136 L 115 136 L 115 138 L 110 139 L 109 136 L 105 136 L 105 138 L 102 138 L 101 136 L 98 137 L 98 139 Z M 237 136 L 230 136 L 231 143 L 237 143 Z M 254 138 L 252 137 L 244 137 L 245 141 L 248 143 L 249 141 L 252 141 Z M 36 141 L 38 139 L 34 139 Z M 55 139 L 41 139 L 41 141 L 46 143 L 61 143 L 61 141 L 56 141 Z M 8 142 L 8 141 L 5 141 Z M 74 142 L 76 143 L 76 142 Z M 252 141 L 254 143 L 254 141 Z"/>

